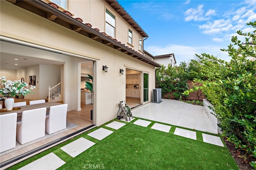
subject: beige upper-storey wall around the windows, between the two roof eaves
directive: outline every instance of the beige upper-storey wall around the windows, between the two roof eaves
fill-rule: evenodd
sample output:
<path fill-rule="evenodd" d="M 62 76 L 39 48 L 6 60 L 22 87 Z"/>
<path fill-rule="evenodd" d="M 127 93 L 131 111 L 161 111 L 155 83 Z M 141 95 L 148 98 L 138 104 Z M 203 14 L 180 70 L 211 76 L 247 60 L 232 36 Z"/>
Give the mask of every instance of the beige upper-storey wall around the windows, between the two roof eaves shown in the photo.
<path fill-rule="evenodd" d="M 68 1 L 68 10 L 75 14 L 74 18 L 82 18 L 83 23 L 90 23 L 93 28 L 100 29 L 100 32 L 106 32 L 105 9 L 108 9 L 116 18 L 115 39 L 142 54 L 142 51 L 139 51 L 139 38 L 143 40 L 143 37 L 104 0 Z M 132 44 L 128 43 L 128 29 L 132 30 Z"/>

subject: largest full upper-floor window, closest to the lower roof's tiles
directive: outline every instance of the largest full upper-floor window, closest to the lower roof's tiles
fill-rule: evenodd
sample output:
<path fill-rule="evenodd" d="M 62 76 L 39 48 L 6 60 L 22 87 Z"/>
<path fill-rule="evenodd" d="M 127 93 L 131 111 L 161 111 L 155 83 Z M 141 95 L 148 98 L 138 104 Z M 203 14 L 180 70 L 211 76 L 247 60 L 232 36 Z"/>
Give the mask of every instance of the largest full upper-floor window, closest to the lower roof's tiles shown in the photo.
<path fill-rule="evenodd" d="M 106 34 L 110 35 L 111 37 L 115 37 L 115 27 L 116 27 L 116 20 L 115 16 L 106 9 Z"/>

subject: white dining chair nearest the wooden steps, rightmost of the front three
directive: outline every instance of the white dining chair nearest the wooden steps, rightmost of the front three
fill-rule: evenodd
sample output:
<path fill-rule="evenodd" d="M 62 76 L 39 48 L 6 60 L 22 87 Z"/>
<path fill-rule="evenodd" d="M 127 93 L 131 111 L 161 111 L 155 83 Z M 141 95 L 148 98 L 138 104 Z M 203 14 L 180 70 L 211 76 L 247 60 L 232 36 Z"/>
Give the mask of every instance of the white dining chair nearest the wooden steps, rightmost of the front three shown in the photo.
<path fill-rule="evenodd" d="M 52 134 L 66 129 L 68 104 L 51 106 L 49 115 L 46 115 L 45 132 Z"/>

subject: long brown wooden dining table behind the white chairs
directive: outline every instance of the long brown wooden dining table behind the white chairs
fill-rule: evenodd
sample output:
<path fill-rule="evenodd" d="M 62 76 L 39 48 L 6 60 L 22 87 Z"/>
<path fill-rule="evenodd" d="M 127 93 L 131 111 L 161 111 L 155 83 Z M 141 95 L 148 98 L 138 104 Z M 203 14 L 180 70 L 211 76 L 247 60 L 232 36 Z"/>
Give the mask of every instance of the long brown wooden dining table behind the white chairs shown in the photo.
<path fill-rule="evenodd" d="M 8 114 L 8 113 L 17 113 L 17 121 L 21 121 L 22 112 L 25 110 L 46 107 L 46 115 L 47 115 L 47 114 L 49 114 L 50 107 L 57 106 L 57 105 L 61 105 L 61 103 L 46 102 L 46 103 L 40 103 L 40 104 L 31 104 L 31 105 L 26 105 L 26 106 L 13 107 L 12 110 L 8 110 L 8 111 L 6 109 L 0 109 L 0 115 L 4 115 L 4 114 Z"/>

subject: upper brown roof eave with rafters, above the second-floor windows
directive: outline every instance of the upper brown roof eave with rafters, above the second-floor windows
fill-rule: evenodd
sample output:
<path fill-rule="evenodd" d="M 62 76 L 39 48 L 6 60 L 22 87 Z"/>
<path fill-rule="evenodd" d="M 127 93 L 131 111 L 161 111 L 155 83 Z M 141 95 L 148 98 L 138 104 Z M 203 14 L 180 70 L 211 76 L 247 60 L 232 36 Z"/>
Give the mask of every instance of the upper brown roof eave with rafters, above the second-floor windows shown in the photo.
<path fill-rule="evenodd" d="M 127 23 L 129 23 L 142 37 L 148 37 L 148 34 L 140 25 L 124 10 L 116 0 L 105 0 Z"/>

